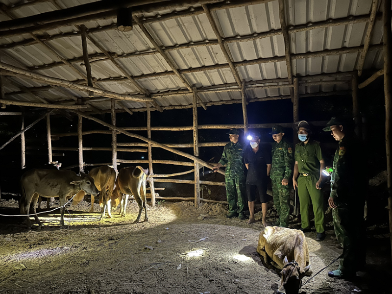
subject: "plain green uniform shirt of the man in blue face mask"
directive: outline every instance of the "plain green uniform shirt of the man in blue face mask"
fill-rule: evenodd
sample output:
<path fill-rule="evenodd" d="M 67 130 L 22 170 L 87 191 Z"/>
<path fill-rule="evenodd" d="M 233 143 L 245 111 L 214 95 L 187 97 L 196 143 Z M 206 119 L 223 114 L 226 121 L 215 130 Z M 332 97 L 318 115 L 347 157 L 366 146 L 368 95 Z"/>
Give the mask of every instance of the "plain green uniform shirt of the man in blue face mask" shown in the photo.
<path fill-rule="evenodd" d="M 320 160 L 322 159 L 320 143 L 312 138 L 307 144 L 303 142 L 295 145 L 295 161 L 298 162 L 298 172 L 320 172 Z"/>

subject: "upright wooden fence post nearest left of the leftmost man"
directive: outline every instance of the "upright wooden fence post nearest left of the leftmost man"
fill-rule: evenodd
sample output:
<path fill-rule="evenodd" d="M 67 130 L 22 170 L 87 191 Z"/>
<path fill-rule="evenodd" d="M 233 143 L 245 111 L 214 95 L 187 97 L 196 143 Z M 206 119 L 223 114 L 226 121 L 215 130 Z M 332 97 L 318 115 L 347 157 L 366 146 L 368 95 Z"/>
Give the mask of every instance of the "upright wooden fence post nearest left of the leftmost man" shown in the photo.
<path fill-rule="evenodd" d="M 193 155 L 199 156 L 199 138 L 197 126 L 197 92 L 196 87 L 192 88 L 193 91 Z M 199 164 L 195 161 L 195 207 L 200 206 L 200 168 Z"/>

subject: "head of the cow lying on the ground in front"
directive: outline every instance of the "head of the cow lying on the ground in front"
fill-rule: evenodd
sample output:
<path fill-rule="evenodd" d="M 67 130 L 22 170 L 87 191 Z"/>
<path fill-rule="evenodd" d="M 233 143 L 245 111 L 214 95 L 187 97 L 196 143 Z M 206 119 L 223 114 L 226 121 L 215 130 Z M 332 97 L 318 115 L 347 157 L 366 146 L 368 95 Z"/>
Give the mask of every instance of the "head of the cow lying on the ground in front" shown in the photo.
<path fill-rule="evenodd" d="M 280 287 L 276 290 L 276 294 L 298 294 L 302 278 L 312 275 L 312 266 L 308 265 L 301 269 L 294 260 L 289 262 L 287 256 L 283 263 L 285 266 L 281 271 Z"/>

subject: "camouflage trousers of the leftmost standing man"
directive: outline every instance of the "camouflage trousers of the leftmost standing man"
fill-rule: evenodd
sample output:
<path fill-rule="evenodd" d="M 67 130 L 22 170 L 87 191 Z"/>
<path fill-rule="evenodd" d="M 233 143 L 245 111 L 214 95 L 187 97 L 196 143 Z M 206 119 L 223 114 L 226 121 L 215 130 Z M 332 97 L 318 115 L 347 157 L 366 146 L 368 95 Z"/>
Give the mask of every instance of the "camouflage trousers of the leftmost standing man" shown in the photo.
<path fill-rule="evenodd" d="M 225 177 L 229 213 L 244 212 L 247 208 L 245 177 Z"/>

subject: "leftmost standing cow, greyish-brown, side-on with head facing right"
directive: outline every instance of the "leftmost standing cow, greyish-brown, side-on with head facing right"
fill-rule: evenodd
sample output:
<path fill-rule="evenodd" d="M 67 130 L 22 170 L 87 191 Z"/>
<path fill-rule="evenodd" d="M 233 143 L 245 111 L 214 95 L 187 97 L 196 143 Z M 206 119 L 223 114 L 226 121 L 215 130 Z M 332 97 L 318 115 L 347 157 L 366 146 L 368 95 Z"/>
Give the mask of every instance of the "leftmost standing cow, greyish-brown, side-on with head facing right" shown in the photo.
<path fill-rule="evenodd" d="M 77 194 L 80 190 L 83 190 L 87 194 L 98 195 L 98 190 L 94 185 L 94 179 L 83 172 L 80 172 L 81 176 L 71 171 L 53 171 L 53 170 L 39 170 L 34 169 L 22 176 L 22 198 L 19 201 L 19 207 L 21 214 L 28 215 L 30 213 L 30 206 L 32 207 L 33 213 L 36 213 L 35 206 L 37 204 L 38 196 L 50 198 L 59 197 L 60 206 L 65 204 L 67 198 Z M 61 219 L 60 225 L 64 226 L 64 207 L 60 208 Z M 39 228 L 42 227 L 42 223 L 38 219 L 38 216 L 34 215 L 35 221 L 37 221 Z M 30 218 L 27 219 L 27 227 L 31 228 Z"/>

